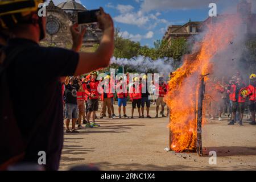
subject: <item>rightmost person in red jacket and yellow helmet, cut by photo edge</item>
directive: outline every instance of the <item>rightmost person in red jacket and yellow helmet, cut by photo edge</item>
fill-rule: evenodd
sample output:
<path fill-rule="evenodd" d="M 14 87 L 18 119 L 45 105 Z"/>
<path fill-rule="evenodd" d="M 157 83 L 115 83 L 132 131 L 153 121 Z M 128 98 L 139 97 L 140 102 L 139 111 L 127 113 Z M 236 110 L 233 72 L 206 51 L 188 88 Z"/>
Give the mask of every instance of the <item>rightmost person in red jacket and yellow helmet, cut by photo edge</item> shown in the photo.
<path fill-rule="evenodd" d="M 250 125 L 256 125 L 255 122 L 255 101 L 256 101 L 256 75 L 255 74 L 251 74 L 250 75 L 250 85 L 247 86 L 247 95 L 244 96 L 244 98 L 246 98 L 247 96 L 249 96 L 249 107 L 250 107 L 250 112 L 251 112 L 251 122 Z"/>

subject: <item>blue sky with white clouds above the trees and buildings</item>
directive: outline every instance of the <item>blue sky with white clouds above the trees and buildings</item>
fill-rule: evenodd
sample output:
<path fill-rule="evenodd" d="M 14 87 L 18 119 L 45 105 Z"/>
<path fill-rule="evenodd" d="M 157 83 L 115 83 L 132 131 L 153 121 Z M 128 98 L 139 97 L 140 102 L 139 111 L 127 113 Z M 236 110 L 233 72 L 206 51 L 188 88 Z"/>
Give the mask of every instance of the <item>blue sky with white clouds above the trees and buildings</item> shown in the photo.
<path fill-rule="evenodd" d="M 65 0 L 53 0 L 57 5 Z M 162 39 L 164 31 L 171 24 L 184 24 L 189 19 L 201 21 L 208 18 L 210 2 L 217 4 L 217 13 L 236 11 L 240 0 L 77 0 L 86 9 L 104 7 L 114 19 L 115 27 L 120 28 L 124 38 L 153 46 Z M 253 2 L 255 11 L 256 0 Z"/>

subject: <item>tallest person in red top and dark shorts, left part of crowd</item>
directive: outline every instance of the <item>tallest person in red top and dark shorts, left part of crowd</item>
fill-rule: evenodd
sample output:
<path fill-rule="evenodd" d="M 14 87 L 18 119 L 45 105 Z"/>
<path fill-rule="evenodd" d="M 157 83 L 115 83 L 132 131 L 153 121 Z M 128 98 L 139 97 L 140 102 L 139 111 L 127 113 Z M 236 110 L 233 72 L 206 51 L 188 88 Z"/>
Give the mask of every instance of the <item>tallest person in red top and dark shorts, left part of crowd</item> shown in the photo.
<path fill-rule="evenodd" d="M 88 81 L 88 84 L 86 85 L 86 90 L 85 93 L 88 96 L 88 101 L 87 101 L 87 105 L 88 105 L 88 113 L 86 115 L 86 126 L 85 127 L 99 127 L 100 125 L 98 125 L 95 122 L 95 118 L 96 118 L 96 111 L 98 110 L 98 98 L 99 98 L 99 93 L 98 93 L 98 80 L 97 80 L 97 72 L 93 71 L 90 73 L 90 80 Z M 92 124 L 90 124 L 90 115 L 93 113 L 92 115 Z"/>

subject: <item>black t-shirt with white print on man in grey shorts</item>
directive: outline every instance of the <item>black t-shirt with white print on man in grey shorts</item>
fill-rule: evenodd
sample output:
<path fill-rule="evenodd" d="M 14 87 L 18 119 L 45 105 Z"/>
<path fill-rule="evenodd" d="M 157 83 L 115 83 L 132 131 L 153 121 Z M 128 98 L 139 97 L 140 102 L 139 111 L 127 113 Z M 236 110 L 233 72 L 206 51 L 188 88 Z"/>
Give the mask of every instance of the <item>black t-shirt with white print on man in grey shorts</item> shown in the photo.
<path fill-rule="evenodd" d="M 77 104 L 77 91 L 79 90 L 79 85 L 65 85 L 65 104 Z"/>

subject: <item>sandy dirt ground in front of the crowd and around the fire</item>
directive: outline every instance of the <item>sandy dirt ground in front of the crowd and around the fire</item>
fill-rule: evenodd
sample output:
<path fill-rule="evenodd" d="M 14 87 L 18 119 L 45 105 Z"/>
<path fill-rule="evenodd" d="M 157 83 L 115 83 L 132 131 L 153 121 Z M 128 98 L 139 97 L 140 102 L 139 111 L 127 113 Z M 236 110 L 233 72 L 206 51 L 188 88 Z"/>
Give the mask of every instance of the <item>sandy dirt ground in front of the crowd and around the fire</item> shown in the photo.
<path fill-rule="evenodd" d="M 155 117 L 155 105 L 150 115 Z M 204 156 L 199 157 L 164 150 L 168 118 L 139 119 L 136 110 L 134 119 L 98 119 L 101 127 L 64 135 L 60 170 L 81 164 L 102 170 L 256 170 L 256 126 L 246 121 L 229 126 L 227 120 L 203 126 Z M 217 164 L 209 164 L 209 151 L 217 152 Z"/>

